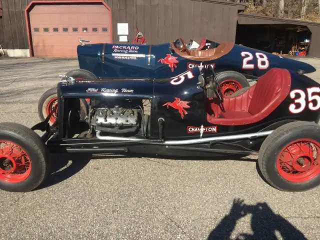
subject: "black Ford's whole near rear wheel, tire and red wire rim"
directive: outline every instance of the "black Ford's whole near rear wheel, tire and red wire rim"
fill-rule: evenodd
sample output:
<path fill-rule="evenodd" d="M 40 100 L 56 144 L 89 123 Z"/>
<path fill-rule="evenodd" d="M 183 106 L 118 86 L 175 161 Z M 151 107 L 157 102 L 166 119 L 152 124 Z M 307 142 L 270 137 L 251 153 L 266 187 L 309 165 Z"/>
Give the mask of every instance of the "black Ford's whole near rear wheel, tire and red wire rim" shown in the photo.
<path fill-rule="evenodd" d="M 320 125 L 296 121 L 263 141 L 258 165 L 266 181 L 283 191 L 304 191 L 320 184 Z"/>

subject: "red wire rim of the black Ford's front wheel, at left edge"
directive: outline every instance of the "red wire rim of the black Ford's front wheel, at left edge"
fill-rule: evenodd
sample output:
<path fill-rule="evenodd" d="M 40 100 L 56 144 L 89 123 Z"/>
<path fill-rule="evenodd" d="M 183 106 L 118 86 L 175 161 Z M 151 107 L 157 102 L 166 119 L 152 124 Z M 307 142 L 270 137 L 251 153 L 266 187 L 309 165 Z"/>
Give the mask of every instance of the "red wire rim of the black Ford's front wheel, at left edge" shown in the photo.
<path fill-rule="evenodd" d="M 30 172 L 31 161 L 25 150 L 12 141 L 0 140 L 0 180 L 21 182 Z"/>

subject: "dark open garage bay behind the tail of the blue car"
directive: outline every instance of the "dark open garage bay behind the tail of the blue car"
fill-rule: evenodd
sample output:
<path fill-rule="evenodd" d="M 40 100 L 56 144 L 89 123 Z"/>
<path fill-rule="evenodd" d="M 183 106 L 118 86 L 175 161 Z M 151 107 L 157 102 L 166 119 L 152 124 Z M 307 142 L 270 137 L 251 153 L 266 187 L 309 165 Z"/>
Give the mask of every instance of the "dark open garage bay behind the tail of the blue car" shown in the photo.
<path fill-rule="evenodd" d="M 238 24 L 235 43 L 290 56 L 307 56 L 311 31 L 293 24 Z"/>

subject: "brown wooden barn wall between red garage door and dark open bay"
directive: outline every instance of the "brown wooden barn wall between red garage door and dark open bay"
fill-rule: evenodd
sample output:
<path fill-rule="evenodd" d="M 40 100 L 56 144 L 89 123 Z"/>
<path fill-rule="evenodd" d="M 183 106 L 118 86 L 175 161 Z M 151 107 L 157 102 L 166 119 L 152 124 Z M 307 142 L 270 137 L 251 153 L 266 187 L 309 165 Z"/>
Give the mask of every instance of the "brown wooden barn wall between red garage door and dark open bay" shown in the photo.
<path fill-rule="evenodd" d="M 135 27 L 147 43 L 162 43 L 182 37 L 199 41 L 234 41 L 238 6 L 194 0 L 109 0 L 112 8 L 113 41 L 118 42 L 116 23 L 127 22 L 128 40 Z"/>

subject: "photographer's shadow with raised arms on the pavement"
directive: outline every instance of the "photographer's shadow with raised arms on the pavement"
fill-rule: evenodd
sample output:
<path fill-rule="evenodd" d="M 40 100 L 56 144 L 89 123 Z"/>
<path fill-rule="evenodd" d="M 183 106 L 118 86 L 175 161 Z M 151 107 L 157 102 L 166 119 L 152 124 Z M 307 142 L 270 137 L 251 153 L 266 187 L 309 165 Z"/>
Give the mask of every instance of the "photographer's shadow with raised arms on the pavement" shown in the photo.
<path fill-rule="evenodd" d="M 241 233 L 235 238 L 237 240 L 278 239 L 275 235 L 276 231 L 282 239 L 307 239 L 290 222 L 275 214 L 266 202 L 247 205 L 240 199 L 233 200 L 229 213 L 221 219 L 207 239 L 230 239 L 237 220 L 248 213 L 252 214 L 251 229 L 253 234 Z"/>

